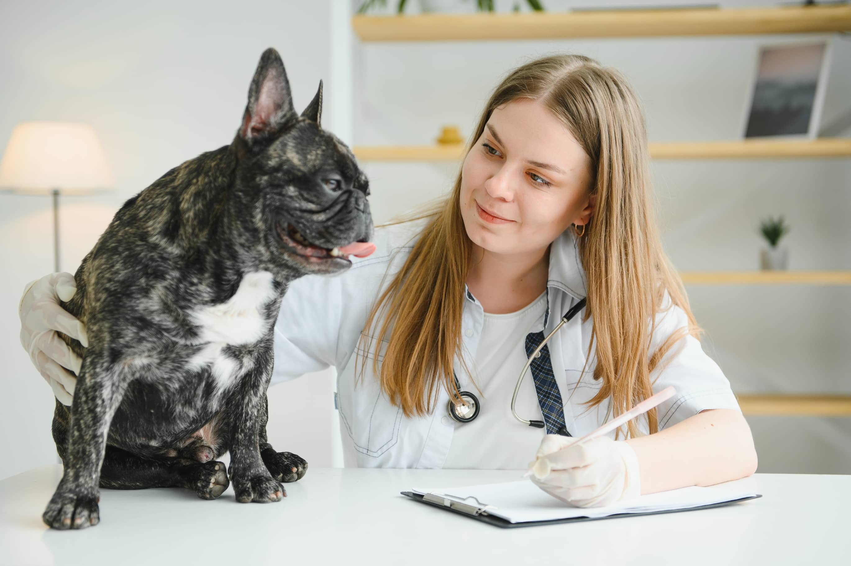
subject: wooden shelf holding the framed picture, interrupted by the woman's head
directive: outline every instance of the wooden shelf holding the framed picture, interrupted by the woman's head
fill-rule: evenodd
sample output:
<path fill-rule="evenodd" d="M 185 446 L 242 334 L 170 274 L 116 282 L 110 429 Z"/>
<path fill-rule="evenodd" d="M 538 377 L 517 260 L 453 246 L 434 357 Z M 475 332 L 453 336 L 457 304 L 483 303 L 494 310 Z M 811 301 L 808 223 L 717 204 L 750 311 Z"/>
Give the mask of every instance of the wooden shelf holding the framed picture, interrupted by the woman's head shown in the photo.
<path fill-rule="evenodd" d="M 459 161 L 464 144 L 440 146 L 355 146 L 361 161 Z M 649 144 L 654 159 L 780 159 L 851 157 L 851 138 L 818 140 L 694 141 Z"/>

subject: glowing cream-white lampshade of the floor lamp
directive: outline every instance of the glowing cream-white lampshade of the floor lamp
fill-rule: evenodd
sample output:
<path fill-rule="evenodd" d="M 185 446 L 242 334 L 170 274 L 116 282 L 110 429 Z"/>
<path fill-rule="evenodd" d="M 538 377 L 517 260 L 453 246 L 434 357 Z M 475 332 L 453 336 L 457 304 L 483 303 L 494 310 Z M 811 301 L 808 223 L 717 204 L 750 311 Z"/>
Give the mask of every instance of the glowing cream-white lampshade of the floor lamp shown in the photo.
<path fill-rule="evenodd" d="M 0 162 L 0 189 L 28 194 L 100 192 L 112 187 L 94 129 L 83 123 L 25 122 Z"/>

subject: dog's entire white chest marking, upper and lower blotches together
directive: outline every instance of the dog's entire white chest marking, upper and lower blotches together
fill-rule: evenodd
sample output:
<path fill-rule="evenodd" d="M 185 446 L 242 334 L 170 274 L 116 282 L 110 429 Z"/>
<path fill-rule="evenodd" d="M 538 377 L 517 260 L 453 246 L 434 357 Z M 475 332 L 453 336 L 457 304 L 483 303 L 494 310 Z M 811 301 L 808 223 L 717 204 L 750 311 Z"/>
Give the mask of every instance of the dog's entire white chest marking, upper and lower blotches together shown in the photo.
<path fill-rule="evenodd" d="M 191 366 L 209 366 L 220 388 L 229 386 L 249 368 L 222 352 L 227 345 L 252 344 L 266 334 L 266 321 L 260 309 L 275 297 L 270 272 L 247 273 L 239 289 L 226 303 L 204 306 L 191 313 L 200 327 L 200 340 L 207 342 L 189 360 Z"/>

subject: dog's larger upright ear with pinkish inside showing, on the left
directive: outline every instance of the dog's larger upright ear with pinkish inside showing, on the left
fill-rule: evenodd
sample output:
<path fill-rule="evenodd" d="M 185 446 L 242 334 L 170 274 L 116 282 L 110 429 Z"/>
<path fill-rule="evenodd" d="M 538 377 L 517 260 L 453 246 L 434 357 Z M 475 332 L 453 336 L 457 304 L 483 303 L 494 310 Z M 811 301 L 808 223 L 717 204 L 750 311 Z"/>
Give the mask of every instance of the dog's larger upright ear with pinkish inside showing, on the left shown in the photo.
<path fill-rule="evenodd" d="M 277 130 L 295 117 L 293 96 L 289 92 L 287 71 L 281 55 L 275 49 L 266 49 L 254 71 L 248 89 L 248 106 L 245 106 L 243 125 L 239 135 L 248 142 L 262 138 Z"/>

